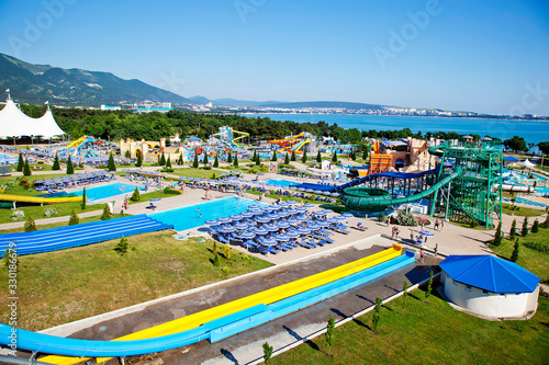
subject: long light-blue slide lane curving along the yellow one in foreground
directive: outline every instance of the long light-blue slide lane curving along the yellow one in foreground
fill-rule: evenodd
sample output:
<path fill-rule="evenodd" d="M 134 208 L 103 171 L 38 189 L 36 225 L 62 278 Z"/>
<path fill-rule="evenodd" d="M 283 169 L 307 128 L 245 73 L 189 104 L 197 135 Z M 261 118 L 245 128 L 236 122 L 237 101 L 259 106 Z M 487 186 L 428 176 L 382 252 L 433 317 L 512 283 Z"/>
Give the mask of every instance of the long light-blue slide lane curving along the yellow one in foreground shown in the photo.
<path fill-rule="evenodd" d="M 392 271 L 402 269 L 413 262 L 414 253 L 406 251 L 404 255 L 288 297 L 269 306 L 257 305 L 239 312 L 206 322 L 195 329 L 170 335 L 134 341 L 91 341 L 57 338 L 18 329 L 18 347 L 66 356 L 115 357 L 161 352 L 203 340 L 215 342 L 276 318 L 283 317 L 292 311 L 311 306 L 358 285 L 381 277 Z M 9 344 L 12 333 L 11 327 L 0 324 L 0 343 Z"/>

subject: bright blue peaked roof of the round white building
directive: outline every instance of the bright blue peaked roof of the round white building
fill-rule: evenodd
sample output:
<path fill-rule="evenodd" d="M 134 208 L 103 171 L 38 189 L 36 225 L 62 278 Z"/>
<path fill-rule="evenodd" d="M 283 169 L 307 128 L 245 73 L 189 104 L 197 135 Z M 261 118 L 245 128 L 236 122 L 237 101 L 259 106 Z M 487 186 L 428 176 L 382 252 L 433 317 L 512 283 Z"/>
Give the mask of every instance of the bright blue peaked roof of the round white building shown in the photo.
<path fill-rule="evenodd" d="M 539 283 L 516 263 L 492 255 L 450 255 L 439 266 L 456 282 L 496 294 L 531 293 Z"/>

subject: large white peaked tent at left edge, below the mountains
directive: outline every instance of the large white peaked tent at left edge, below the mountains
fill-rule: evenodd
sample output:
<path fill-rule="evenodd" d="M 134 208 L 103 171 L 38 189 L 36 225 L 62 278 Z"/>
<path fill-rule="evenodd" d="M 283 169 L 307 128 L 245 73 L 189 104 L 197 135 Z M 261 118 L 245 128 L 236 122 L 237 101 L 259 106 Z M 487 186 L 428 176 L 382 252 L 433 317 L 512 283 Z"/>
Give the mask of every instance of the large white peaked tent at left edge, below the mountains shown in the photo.
<path fill-rule="evenodd" d="M 55 122 L 49 105 L 43 116 L 32 118 L 21 112 L 8 96 L 5 106 L 0 111 L 0 137 L 42 136 L 52 138 L 64 134 L 65 132 Z"/>

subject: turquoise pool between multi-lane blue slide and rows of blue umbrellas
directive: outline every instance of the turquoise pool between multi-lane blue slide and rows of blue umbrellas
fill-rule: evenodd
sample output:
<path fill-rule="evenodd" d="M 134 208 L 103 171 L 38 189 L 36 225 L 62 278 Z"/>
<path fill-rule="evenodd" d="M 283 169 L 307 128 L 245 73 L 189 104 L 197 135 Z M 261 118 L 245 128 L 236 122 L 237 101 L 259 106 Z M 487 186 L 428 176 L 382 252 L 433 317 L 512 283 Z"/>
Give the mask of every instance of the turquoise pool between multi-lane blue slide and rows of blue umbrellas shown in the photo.
<path fill-rule="evenodd" d="M 237 196 L 231 196 L 166 212 L 152 213 L 148 216 L 163 224 L 172 225 L 175 230 L 184 230 L 204 226 L 206 220 L 240 214 L 246 212 L 248 206 L 254 204 L 258 203 L 246 198 L 238 199 Z"/>

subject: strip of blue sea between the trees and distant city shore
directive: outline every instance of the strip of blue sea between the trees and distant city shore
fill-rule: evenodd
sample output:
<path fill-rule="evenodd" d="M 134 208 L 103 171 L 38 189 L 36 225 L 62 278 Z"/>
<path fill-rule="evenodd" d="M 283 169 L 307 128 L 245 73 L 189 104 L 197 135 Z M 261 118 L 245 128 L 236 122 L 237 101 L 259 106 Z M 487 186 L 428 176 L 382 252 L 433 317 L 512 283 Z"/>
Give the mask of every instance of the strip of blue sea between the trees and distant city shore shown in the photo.
<path fill-rule="evenodd" d="M 298 123 L 317 123 L 321 121 L 332 125 L 337 123 L 341 128 L 359 130 L 399 130 L 410 128 L 412 132 L 456 132 L 461 135 L 477 134 L 501 139 L 523 137 L 526 142 L 538 144 L 549 141 L 549 122 L 519 119 L 480 119 L 438 116 L 401 116 L 401 115 L 346 115 L 346 114 L 243 114 L 245 116 L 269 117 L 272 121 L 292 121 Z"/>

